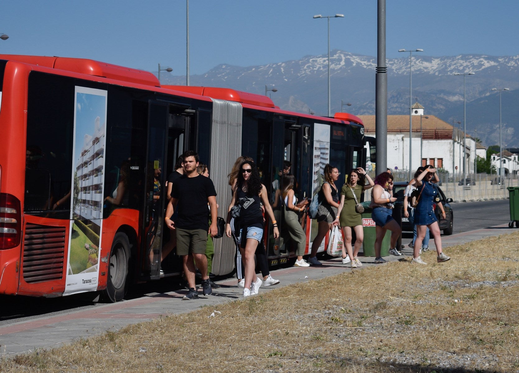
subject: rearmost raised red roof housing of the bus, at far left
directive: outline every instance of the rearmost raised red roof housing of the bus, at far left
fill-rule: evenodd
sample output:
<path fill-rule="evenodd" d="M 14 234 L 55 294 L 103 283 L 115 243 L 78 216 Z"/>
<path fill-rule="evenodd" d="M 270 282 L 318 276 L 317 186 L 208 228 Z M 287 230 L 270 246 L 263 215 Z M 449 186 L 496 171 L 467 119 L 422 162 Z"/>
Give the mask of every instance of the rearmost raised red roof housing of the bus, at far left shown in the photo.
<path fill-rule="evenodd" d="M 65 70 L 79 74 L 100 76 L 108 79 L 123 80 L 146 86 L 160 85 L 157 77 L 150 72 L 83 58 L 0 54 L 0 59 L 56 68 L 58 70 Z"/>

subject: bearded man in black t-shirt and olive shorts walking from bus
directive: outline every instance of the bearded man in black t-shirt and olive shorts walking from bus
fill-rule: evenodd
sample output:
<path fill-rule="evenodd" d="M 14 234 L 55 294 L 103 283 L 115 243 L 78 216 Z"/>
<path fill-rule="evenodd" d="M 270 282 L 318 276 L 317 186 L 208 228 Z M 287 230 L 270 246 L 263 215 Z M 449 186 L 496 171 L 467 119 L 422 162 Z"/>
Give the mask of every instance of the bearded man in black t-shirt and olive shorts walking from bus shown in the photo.
<path fill-rule="evenodd" d="M 193 259 L 202 273 L 203 295 L 212 293 L 205 253 L 208 231 L 211 237 L 218 232 L 216 190 L 209 177 L 197 173 L 198 154 L 188 150 L 183 157 L 184 175 L 173 183 L 171 203 L 166 210 L 165 223 L 168 228 L 176 231 L 176 253 L 183 256 L 184 273 L 189 284 L 189 291 L 184 299 L 198 299 Z M 208 204 L 211 211 L 211 226 L 207 220 Z M 178 214 L 174 222 L 171 219 L 173 213 Z"/>

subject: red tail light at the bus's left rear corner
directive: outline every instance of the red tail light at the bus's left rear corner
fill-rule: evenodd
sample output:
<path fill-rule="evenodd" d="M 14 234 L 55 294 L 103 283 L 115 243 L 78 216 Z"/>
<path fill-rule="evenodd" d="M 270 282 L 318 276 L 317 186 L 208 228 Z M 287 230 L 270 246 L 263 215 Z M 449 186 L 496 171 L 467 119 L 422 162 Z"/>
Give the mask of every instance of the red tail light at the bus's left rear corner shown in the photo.
<path fill-rule="evenodd" d="M 20 201 L 15 196 L 0 193 L 0 250 L 18 246 L 21 237 Z"/>

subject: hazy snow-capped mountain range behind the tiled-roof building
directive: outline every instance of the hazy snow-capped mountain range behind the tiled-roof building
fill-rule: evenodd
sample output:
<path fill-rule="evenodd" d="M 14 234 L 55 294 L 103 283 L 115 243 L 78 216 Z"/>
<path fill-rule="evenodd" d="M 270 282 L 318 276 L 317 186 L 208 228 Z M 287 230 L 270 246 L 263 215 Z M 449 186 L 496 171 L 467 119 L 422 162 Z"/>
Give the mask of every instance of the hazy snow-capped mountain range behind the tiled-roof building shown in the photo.
<path fill-rule="evenodd" d="M 375 113 L 376 57 L 333 50 L 330 54 L 332 113 L 341 111 L 341 100 L 351 103 L 352 114 Z M 388 114 L 407 114 L 409 106 L 409 54 L 388 59 Z M 425 114 L 452 123 L 463 121 L 463 76 L 465 77 L 467 131 L 477 129 L 484 144 L 495 144 L 499 127 L 499 96 L 492 88 L 510 88 L 502 93 L 502 123 L 507 128 L 507 147 L 519 146 L 514 130 L 519 115 L 519 55 L 494 57 L 481 54 L 428 57 L 413 53 L 413 103 Z M 163 76 L 163 84 L 185 84 L 183 76 Z M 229 87 L 264 94 L 276 87 L 272 100 L 283 109 L 317 115 L 327 113 L 327 54 L 260 66 L 220 64 L 203 75 L 190 77 L 196 86 Z M 514 91 L 515 90 L 515 91 Z M 489 129 L 492 129 L 491 131 Z M 504 136 L 503 136 L 504 142 Z"/>

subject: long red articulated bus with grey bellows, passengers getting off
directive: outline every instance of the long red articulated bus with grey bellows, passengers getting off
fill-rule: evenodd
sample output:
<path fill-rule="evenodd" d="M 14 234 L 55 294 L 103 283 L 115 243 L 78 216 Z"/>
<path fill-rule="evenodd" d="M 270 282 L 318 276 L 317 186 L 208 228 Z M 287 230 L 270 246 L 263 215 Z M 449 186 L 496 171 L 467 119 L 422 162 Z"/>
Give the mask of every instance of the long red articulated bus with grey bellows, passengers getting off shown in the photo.
<path fill-rule="evenodd" d="M 131 283 L 179 274 L 174 253 L 160 263 L 162 217 L 166 176 L 187 149 L 209 165 L 224 218 L 240 155 L 255 160 L 269 195 L 291 161 L 299 198 L 316 194 L 326 163 L 343 175 L 365 164 L 357 117 L 287 112 L 263 95 L 161 87 L 149 72 L 88 59 L 1 54 L 0 88 L 0 294 L 102 291 L 119 301 Z M 292 245 L 279 247 L 268 223 L 269 263 L 286 263 Z M 303 223 L 311 242 L 316 229 Z M 212 272 L 231 273 L 234 243 L 214 246 Z"/>

